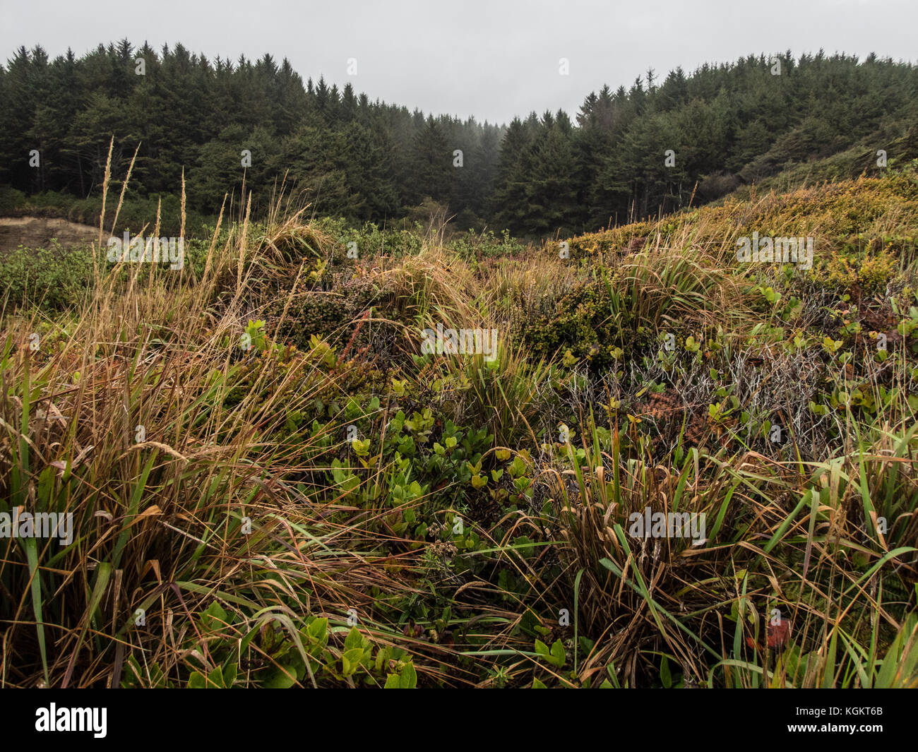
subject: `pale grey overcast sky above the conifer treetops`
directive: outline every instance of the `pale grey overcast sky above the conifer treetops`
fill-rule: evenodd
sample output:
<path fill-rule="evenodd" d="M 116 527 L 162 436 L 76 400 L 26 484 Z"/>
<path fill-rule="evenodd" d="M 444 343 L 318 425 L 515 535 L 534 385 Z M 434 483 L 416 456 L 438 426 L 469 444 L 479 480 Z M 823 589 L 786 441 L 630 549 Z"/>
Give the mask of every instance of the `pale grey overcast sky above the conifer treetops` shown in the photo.
<path fill-rule="evenodd" d="M 270 52 L 304 82 L 324 74 L 371 99 L 507 122 L 559 107 L 573 116 L 590 91 L 628 87 L 648 68 L 689 73 L 749 53 L 914 62 L 916 28 L 918 0 L 3 0 L 0 59 L 23 44 L 55 57 L 123 38 L 180 41 L 211 59 Z"/>

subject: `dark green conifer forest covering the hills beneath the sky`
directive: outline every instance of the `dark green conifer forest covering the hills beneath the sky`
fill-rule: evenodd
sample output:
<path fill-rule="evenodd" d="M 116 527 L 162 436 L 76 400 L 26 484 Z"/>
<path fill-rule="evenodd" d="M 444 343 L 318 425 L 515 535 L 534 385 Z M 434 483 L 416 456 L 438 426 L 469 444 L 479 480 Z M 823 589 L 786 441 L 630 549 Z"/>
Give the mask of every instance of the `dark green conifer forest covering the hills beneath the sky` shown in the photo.
<path fill-rule="evenodd" d="M 0 185 L 91 196 L 114 136 L 115 175 L 140 146 L 129 196 L 174 196 L 184 168 L 190 208 L 216 213 L 243 175 L 264 208 L 286 177 L 323 215 L 386 221 L 432 199 L 460 229 L 533 236 L 710 200 L 916 115 L 918 69 L 872 54 L 750 55 L 662 81 L 650 70 L 590 93 L 573 119 L 505 126 L 304 84 L 269 54 L 211 61 L 124 39 L 79 58 L 21 47 L 0 66 Z"/>

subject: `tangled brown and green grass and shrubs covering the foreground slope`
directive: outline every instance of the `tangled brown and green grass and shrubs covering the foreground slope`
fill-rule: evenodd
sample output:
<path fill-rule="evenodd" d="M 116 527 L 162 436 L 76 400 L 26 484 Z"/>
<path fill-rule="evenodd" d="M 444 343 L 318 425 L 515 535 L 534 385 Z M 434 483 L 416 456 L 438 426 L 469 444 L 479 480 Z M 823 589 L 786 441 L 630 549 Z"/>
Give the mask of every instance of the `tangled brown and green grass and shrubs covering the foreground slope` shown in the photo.
<path fill-rule="evenodd" d="M 83 286 L 36 267 L 3 310 L 0 512 L 74 537 L 0 538 L 0 686 L 918 686 L 916 196 L 569 258 L 278 199 L 172 271 L 100 225 Z M 816 234 L 812 271 L 736 264 L 755 229 Z M 421 353 L 437 323 L 496 357 Z"/>

